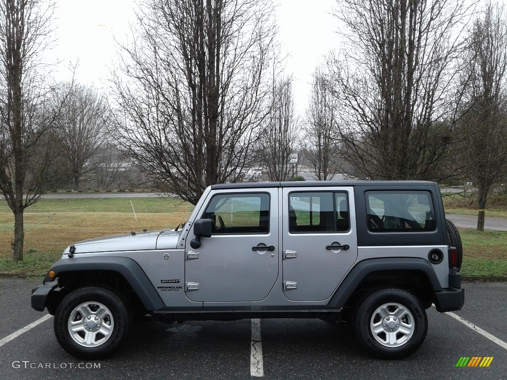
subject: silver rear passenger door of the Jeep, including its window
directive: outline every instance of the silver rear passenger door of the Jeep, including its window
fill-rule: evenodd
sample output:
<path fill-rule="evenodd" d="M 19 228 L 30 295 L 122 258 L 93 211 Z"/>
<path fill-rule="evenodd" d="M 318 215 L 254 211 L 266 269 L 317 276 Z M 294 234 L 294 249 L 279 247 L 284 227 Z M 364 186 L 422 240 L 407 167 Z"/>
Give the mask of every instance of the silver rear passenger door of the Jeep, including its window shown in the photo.
<path fill-rule="evenodd" d="M 283 292 L 325 300 L 357 259 L 353 187 L 286 187 L 282 202 Z"/>

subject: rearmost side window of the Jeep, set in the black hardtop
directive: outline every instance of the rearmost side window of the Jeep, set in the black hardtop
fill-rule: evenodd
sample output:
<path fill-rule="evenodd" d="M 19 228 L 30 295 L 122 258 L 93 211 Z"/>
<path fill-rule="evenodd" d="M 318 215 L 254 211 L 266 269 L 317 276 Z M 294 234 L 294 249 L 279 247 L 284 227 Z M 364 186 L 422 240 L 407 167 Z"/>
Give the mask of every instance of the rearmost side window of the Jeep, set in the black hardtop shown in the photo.
<path fill-rule="evenodd" d="M 431 194 L 424 191 L 366 192 L 371 232 L 428 232 L 435 230 Z"/>

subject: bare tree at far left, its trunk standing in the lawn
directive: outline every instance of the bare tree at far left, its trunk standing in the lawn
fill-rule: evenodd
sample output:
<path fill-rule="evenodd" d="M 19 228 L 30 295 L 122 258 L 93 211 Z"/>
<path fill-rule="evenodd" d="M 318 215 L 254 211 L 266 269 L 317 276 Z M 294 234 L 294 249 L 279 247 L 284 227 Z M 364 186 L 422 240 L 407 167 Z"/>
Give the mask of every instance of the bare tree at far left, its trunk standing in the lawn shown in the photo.
<path fill-rule="evenodd" d="M 0 189 L 14 214 L 15 261 L 23 259 L 23 211 L 44 192 L 56 157 L 48 132 L 59 107 L 41 74 L 52 12 L 42 0 L 0 0 Z"/>

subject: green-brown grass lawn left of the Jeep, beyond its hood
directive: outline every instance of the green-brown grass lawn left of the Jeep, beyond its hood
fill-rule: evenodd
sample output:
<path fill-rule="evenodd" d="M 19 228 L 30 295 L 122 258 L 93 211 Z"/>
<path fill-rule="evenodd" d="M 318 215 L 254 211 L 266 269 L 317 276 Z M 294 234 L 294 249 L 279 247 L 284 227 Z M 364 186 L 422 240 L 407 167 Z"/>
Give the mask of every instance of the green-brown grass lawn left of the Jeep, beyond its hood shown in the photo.
<path fill-rule="evenodd" d="M 187 220 L 193 208 L 189 203 L 160 198 L 43 199 L 25 210 L 24 260 L 14 262 L 14 216 L 5 201 L 0 201 L 0 273 L 43 276 L 71 243 L 174 228 Z"/>

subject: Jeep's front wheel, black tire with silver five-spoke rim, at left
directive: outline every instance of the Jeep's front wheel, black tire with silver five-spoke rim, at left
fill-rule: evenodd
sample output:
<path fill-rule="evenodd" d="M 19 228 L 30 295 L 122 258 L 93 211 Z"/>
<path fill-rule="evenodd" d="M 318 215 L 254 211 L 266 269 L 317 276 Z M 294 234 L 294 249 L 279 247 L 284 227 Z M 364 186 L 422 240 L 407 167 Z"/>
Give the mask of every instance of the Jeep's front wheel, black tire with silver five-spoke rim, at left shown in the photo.
<path fill-rule="evenodd" d="M 63 298 L 56 309 L 54 330 L 58 343 L 70 355 L 104 359 L 128 336 L 131 320 L 128 305 L 120 295 L 112 289 L 90 286 Z M 71 324 L 76 330 L 70 331 Z"/>

